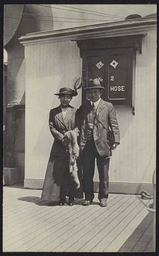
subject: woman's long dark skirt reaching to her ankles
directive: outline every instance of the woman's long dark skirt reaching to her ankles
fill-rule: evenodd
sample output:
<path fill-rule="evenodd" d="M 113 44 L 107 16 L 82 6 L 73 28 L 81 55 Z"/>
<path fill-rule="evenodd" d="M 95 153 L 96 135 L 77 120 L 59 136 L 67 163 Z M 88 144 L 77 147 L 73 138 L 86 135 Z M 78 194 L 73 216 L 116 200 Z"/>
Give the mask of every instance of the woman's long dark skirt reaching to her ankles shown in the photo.
<path fill-rule="evenodd" d="M 77 159 L 78 179 L 80 188 L 76 189 L 69 173 L 67 157 L 50 155 L 42 189 L 42 199 L 58 201 L 68 197 L 83 198 L 82 165 Z"/>

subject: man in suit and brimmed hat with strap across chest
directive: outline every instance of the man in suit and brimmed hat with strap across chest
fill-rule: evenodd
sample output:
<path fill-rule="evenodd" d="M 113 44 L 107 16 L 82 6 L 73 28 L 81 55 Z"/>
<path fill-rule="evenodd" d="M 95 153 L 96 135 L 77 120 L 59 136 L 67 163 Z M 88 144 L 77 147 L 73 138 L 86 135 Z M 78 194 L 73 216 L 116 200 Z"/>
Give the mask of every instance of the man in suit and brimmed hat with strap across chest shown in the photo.
<path fill-rule="evenodd" d="M 80 106 L 76 119 L 76 129 L 80 131 L 80 149 L 82 152 L 85 193 L 83 205 L 90 205 L 94 198 L 93 177 L 96 158 L 99 173 L 99 205 L 107 206 L 111 150 L 115 150 L 119 144 L 120 136 L 116 113 L 112 103 L 101 99 L 103 89 L 98 78 L 89 80 L 85 90 L 88 92 L 90 101 Z M 115 141 L 111 148 L 107 139 L 109 126 Z"/>

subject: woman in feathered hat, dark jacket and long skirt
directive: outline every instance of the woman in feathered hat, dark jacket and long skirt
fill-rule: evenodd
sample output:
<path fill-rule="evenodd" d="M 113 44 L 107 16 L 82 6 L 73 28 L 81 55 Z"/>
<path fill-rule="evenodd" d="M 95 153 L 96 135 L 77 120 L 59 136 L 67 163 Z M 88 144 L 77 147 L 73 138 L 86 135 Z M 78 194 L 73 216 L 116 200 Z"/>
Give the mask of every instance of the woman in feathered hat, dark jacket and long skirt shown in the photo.
<path fill-rule="evenodd" d="M 80 88 L 80 87 L 79 87 Z M 61 88 L 59 93 L 60 105 L 50 110 L 49 128 L 54 143 L 51 148 L 50 157 L 47 165 L 42 199 L 59 201 L 62 206 L 66 202 L 66 196 L 69 197 L 68 205 L 74 204 L 74 197 L 83 198 L 82 186 L 76 189 L 74 182 L 70 179 L 69 162 L 68 162 L 68 138 L 65 136 L 70 130 L 74 129 L 74 120 L 77 109 L 69 105 L 72 97 L 77 95 L 77 91 L 70 88 Z M 76 134 L 76 137 L 78 134 Z M 77 175 L 81 184 L 82 168 L 80 160 L 77 159 Z"/>

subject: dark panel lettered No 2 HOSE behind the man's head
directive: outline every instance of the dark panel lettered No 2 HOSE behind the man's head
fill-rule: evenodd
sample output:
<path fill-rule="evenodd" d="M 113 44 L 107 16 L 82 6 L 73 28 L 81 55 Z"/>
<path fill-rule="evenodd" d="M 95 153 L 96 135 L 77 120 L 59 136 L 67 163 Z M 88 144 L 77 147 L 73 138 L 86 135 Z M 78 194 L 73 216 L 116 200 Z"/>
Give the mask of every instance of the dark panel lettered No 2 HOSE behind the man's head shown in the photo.
<path fill-rule="evenodd" d="M 102 98 L 113 104 L 131 105 L 133 86 L 133 49 L 90 51 L 83 53 L 83 78 L 99 78 L 105 88 Z M 87 93 L 83 89 L 83 103 Z"/>

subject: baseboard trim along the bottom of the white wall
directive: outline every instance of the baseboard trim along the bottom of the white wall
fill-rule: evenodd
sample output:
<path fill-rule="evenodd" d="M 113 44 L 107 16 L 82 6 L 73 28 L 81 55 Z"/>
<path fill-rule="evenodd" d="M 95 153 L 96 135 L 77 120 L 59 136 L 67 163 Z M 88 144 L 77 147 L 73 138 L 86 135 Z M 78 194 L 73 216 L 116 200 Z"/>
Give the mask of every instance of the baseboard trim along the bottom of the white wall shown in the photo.
<path fill-rule="evenodd" d="M 44 180 L 42 179 L 24 179 L 24 188 L 42 189 Z M 94 191 L 98 192 L 99 182 L 94 181 Z M 150 183 L 126 183 L 110 182 L 109 193 L 139 195 L 142 190 L 153 194 L 153 184 Z"/>

